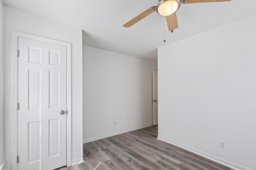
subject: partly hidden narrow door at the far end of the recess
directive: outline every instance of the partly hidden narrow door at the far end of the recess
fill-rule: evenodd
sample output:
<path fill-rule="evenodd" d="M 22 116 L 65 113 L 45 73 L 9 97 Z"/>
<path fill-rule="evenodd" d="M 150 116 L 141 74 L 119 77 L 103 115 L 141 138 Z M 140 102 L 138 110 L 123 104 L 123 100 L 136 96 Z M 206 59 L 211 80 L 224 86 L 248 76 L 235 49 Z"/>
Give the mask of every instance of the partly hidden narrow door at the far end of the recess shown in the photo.
<path fill-rule="evenodd" d="M 153 118 L 154 125 L 158 124 L 158 84 L 157 71 L 153 71 Z"/>

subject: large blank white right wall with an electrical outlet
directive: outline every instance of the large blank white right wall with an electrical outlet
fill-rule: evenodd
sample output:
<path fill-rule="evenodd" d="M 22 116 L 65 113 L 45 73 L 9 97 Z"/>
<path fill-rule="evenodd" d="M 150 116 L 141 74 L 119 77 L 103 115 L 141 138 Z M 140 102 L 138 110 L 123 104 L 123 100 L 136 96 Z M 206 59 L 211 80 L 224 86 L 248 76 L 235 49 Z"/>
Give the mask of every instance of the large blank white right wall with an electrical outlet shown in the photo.
<path fill-rule="evenodd" d="M 159 139 L 256 169 L 255 23 L 252 15 L 158 49 Z"/>

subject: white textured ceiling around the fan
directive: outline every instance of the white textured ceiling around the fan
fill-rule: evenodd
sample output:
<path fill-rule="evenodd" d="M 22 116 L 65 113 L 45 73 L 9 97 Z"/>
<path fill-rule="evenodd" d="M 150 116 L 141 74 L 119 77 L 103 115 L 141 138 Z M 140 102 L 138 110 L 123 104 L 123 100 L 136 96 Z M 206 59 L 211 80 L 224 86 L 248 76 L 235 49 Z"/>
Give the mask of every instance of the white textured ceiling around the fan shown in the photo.
<path fill-rule="evenodd" d="M 156 12 L 130 28 L 122 27 L 138 14 L 156 6 L 158 0 L 2 0 L 2 2 L 6 6 L 83 29 L 84 45 L 152 60 L 157 59 L 158 47 L 256 13 L 256 0 L 182 4 L 177 11 L 179 28 L 171 33 L 168 31 L 165 17 Z M 165 43 L 164 39 L 166 39 Z"/>

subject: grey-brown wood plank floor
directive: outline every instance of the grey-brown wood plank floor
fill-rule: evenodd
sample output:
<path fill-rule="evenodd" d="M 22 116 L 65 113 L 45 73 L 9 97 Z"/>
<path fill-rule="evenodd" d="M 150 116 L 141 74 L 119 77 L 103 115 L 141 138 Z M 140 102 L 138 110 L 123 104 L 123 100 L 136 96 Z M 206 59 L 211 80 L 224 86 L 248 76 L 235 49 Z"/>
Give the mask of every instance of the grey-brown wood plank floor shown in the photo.
<path fill-rule="evenodd" d="M 156 139 L 157 126 L 83 145 L 84 162 L 57 170 L 233 170 Z"/>

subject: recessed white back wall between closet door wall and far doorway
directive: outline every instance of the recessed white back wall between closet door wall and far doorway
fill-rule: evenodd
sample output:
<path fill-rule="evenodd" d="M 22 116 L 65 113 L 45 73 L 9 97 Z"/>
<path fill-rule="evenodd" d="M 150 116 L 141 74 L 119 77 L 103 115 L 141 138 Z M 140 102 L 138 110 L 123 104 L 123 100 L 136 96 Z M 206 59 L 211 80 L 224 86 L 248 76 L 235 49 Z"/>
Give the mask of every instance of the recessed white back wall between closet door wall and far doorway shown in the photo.
<path fill-rule="evenodd" d="M 156 61 L 83 46 L 84 143 L 152 125 L 153 70 Z"/>

